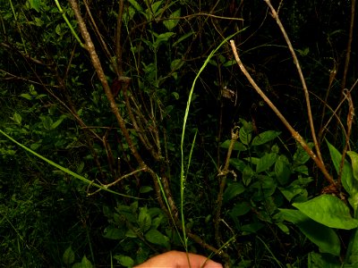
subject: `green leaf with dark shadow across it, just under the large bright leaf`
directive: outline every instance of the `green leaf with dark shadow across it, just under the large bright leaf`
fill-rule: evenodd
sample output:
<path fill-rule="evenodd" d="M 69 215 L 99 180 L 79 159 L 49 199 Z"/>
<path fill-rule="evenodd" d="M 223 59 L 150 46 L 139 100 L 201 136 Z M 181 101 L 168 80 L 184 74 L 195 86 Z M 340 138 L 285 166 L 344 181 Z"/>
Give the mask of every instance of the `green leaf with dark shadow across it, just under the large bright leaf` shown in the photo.
<path fill-rule="evenodd" d="M 302 212 L 294 209 L 280 209 L 279 214 L 287 222 L 292 222 L 310 239 L 312 243 L 320 247 L 323 253 L 339 255 L 341 251 L 340 240 L 337 233 L 318 222 L 312 221 Z"/>

